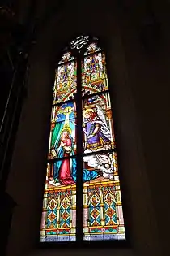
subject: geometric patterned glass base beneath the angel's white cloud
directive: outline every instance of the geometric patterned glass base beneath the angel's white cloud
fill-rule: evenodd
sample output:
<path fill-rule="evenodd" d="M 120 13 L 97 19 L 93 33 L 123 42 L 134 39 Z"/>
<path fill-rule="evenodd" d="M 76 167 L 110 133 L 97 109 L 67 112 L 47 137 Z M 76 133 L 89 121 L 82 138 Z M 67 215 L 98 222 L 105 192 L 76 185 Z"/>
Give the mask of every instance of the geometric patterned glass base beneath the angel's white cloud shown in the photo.
<path fill-rule="evenodd" d="M 125 240 L 119 180 L 83 184 L 83 239 Z"/>

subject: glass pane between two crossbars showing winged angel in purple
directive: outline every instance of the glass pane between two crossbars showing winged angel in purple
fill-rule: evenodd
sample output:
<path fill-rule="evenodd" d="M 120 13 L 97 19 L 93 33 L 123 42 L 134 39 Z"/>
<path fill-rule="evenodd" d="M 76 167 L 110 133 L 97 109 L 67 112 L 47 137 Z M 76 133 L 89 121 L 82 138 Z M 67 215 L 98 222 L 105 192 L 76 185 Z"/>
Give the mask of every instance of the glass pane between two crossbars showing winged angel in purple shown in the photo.
<path fill-rule="evenodd" d="M 91 90 L 91 89 L 89 89 Z M 83 100 L 83 149 L 85 154 L 115 147 L 113 116 L 108 93 Z"/>

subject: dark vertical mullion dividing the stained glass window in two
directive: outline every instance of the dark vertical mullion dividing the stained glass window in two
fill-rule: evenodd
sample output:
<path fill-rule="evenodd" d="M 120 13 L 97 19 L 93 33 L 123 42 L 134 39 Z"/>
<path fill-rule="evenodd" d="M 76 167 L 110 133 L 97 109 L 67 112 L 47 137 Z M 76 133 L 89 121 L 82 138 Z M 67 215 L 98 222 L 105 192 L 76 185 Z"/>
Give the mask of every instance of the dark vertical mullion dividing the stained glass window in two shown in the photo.
<path fill-rule="evenodd" d="M 81 54 L 77 58 L 77 182 L 76 182 L 76 241 L 83 241 L 83 132 L 82 132 L 82 76 L 81 76 Z"/>

